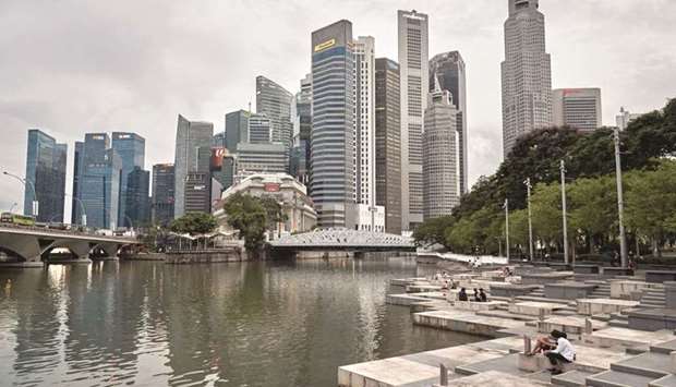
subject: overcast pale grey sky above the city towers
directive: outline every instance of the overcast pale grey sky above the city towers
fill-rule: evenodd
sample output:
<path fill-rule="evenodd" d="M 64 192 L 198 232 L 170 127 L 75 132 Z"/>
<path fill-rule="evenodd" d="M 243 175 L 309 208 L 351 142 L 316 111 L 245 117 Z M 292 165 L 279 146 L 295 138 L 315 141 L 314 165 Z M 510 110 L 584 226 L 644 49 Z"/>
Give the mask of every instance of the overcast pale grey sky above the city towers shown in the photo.
<path fill-rule="evenodd" d="M 69 146 L 85 132 L 146 138 L 146 168 L 173 161 L 177 114 L 224 130 L 255 104 L 255 76 L 292 93 L 310 71 L 310 34 L 340 19 L 397 60 L 397 9 L 430 15 L 430 55 L 467 63 L 470 182 L 502 161 L 499 63 L 507 0 L 0 0 L 0 167 L 25 173 L 26 131 Z M 603 122 L 676 96 L 676 1 L 541 0 L 552 81 L 601 87 Z M 0 210 L 23 188 L 0 176 Z M 68 201 L 67 201 L 68 202 Z M 67 203 L 67 214 L 70 204 Z M 67 220 L 70 216 L 67 215 Z"/>

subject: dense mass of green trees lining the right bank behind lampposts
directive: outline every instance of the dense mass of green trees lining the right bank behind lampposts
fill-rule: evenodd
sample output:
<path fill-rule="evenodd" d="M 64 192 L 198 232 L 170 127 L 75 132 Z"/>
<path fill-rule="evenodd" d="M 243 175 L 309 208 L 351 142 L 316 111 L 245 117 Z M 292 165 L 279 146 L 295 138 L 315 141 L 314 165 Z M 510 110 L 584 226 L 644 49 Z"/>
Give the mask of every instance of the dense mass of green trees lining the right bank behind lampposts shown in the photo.
<path fill-rule="evenodd" d="M 620 133 L 620 150 L 625 171 L 654 170 L 660 173 L 666 168 L 655 160 L 676 155 L 676 99 L 669 100 L 660 111 L 631 121 Z M 614 152 L 613 131 L 607 128 L 591 133 L 569 128 L 532 131 L 517 141 L 495 174 L 480 178 L 472 191 L 460 198 L 452 216 L 443 220 L 430 219 L 419 226 L 413 235 L 419 243 L 436 243 L 442 240 L 439 235 L 444 235 L 443 244 L 454 251 L 469 252 L 482 246 L 484 251 L 495 252 L 496 242 L 504 240 L 500 205 L 508 198 L 512 210 L 510 243 L 527 244 L 524 235 L 528 234 L 523 232 L 528 232 L 528 226 L 523 226 L 524 213 L 520 210 L 527 207 L 523 182 L 530 178 L 535 186 L 531 198 L 534 238 L 546 245 L 560 245 L 559 162 L 565 160 L 566 177 L 570 180 L 567 186 L 570 239 L 587 243 L 590 250 L 602 242 L 611 243 L 617 238 Z M 629 215 L 629 227 L 653 240 L 673 233 L 676 215 L 663 204 L 666 199 L 674 203 L 672 196 L 664 194 L 666 196 L 660 204 L 649 204 L 647 198 L 659 201 L 659 194 L 654 190 L 647 192 L 647 188 L 635 190 L 641 183 L 632 184 L 630 177 L 628 173 L 626 191 L 632 199 L 628 197 L 627 204 L 633 206 L 635 213 Z M 656 178 L 652 179 L 652 183 L 657 184 Z M 654 188 L 654 184 L 648 185 Z M 639 208 L 639 201 L 643 201 L 645 208 Z M 661 216 L 638 214 L 652 214 L 648 207 L 655 213 L 661 210 Z"/>

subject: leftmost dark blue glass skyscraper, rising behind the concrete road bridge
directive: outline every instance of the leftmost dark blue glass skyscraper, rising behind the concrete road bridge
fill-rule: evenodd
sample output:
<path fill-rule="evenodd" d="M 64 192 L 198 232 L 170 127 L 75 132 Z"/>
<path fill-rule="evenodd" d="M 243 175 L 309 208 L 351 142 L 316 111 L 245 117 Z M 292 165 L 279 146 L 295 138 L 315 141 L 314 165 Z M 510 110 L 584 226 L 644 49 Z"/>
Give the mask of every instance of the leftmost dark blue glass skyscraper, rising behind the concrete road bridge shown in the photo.
<path fill-rule="evenodd" d="M 39 129 L 28 130 L 24 214 L 38 221 L 63 222 L 67 145 Z M 33 202 L 38 202 L 37 214 Z"/>

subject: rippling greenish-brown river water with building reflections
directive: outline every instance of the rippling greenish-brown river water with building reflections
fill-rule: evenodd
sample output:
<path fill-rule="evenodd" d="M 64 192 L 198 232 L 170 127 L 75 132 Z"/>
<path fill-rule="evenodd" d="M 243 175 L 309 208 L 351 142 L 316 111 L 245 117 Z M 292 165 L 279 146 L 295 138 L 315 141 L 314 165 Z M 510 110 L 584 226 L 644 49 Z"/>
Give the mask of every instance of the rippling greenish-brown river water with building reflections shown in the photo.
<path fill-rule="evenodd" d="M 0 271 L 0 385 L 335 386 L 337 366 L 475 340 L 385 304 L 403 258 Z"/>

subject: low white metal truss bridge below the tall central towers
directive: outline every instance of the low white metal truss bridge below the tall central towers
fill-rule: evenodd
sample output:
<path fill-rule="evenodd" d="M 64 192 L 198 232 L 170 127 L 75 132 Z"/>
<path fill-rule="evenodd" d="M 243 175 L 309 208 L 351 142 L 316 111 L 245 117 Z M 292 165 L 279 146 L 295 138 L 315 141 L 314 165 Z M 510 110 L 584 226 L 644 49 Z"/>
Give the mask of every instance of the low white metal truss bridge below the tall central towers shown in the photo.
<path fill-rule="evenodd" d="M 413 240 L 385 232 L 345 228 L 316 229 L 269 242 L 276 252 L 415 252 Z"/>

